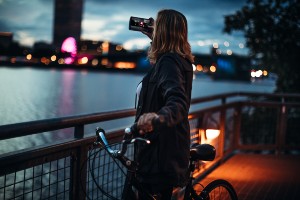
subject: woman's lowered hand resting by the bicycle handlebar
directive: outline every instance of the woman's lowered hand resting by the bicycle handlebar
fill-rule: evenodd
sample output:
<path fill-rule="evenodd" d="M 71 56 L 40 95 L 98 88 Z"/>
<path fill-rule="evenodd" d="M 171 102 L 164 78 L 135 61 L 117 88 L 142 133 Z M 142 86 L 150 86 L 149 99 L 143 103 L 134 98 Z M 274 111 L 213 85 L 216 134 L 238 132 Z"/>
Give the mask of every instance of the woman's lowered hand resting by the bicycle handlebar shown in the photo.
<path fill-rule="evenodd" d="M 139 130 L 139 133 L 141 135 L 144 135 L 146 133 L 153 131 L 153 120 L 159 118 L 159 116 L 156 113 L 145 113 L 142 116 L 140 116 L 137 127 Z"/>

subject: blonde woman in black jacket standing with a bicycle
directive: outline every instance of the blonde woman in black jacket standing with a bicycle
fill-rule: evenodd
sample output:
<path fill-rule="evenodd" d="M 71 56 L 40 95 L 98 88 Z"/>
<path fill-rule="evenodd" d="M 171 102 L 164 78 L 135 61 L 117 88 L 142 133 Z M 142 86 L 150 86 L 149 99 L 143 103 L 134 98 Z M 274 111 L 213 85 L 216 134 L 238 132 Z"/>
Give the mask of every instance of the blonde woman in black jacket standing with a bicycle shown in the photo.
<path fill-rule="evenodd" d="M 138 86 L 136 113 L 139 136 L 151 144 L 138 145 L 136 159 L 145 188 L 171 199 L 173 187 L 183 187 L 188 179 L 193 56 L 183 14 L 161 10 L 153 28 L 148 58 L 154 66 Z"/>

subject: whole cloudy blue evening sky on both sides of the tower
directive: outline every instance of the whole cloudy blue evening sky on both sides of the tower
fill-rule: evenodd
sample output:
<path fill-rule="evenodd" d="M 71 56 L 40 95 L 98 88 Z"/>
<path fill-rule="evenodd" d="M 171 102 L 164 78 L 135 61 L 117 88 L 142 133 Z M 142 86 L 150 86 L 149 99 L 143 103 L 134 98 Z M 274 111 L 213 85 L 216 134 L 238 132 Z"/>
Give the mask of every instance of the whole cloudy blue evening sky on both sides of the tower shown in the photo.
<path fill-rule="evenodd" d="M 167 0 L 85 0 L 81 39 L 118 43 L 128 50 L 143 49 L 149 46 L 150 40 L 139 32 L 128 30 L 129 17 L 155 18 L 158 10 L 170 8 L 186 15 L 194 53 L 210 53 L 216 43 L 221 50 L 247 54 L 242 33 L 222 33 L 224 16 L 235 13 L 244 4 L 244 0 L 174 0 L 172 3 Z M 53 20 L 54 0 L 0 0 L 0 32 L 12 32 L 14 40 L 22 45 L 32 46 L 39 41 L 52 43 Z"/>

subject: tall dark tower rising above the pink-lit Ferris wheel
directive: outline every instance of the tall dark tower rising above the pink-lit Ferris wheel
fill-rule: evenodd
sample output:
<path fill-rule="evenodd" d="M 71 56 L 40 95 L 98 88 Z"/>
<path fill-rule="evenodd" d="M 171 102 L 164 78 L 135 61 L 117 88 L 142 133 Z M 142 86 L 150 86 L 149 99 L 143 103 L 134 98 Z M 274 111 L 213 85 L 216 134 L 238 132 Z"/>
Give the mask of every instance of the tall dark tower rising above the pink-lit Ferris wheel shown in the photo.
<path fill-rule="evenodd" d="M 81 35 L 83 0 L 55 0 L 53 44 L 60 47 L 67 37 Z"/>

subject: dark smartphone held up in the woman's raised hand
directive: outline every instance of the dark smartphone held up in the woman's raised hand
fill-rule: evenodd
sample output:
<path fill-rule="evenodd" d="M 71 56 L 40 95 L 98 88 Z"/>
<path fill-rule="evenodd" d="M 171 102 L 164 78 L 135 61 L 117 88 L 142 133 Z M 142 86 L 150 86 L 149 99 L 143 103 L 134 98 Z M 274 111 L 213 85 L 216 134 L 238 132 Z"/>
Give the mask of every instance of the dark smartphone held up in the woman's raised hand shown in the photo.
<path fill-rule="evenodd" d="M 153 18 L 141 18 L 141 17 L 130 17 L 129 19 L 129 30 L 132 31 L 144 31 L 151 33 L 153 31 L 153 28 L 149 27 L 152 26 L 154 23 Z"/>

